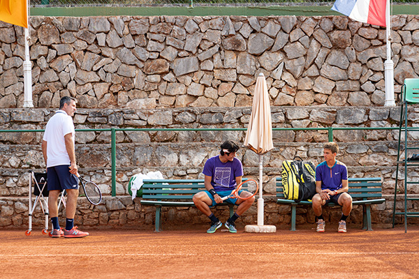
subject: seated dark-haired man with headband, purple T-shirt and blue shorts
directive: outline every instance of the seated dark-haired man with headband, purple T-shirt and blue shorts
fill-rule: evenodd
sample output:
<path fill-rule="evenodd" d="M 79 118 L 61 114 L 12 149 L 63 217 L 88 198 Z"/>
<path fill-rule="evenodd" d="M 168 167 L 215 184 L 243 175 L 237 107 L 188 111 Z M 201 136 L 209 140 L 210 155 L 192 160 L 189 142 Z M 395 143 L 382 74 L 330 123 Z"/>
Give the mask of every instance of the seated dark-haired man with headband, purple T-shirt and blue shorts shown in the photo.
<path fill-rule="evenodd" d="M 207 233 L 212 234 L 221 227 L 221 221 L 214 216 L 210 207 L 223 202 L 222 197 L 226 197 L 242 183 L 243 167 L 242 162 L 235 158 L 239 146 L 231 141 L 221 144 L 220 155 L 209 158 L 205 162 L 203 174 L 205 175 L 205 188 L 207 190 L 193 195 L 193 203 L 196 208 L 203 212 L 211 220 L 211 227 Z M 240 190 L 240 197 L 249 197 L 251 193 Z M 237 232 L 235 220 L 242 215 L 253 204 L 255 197 L 250 199 L 226 199 L 230 204 L 237 204 L 237 211 L 231 216 L 225 226 L 229 232 Z"/>

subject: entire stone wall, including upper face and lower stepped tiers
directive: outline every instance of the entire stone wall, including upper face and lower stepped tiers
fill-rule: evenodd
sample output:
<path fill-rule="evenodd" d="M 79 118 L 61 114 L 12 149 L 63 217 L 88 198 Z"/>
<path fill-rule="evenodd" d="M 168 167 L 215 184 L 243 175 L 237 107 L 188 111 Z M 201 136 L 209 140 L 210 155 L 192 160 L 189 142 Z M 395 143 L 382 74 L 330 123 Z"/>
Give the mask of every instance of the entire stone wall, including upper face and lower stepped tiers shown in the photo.
<path fill-rule="evenodd" d="M 418 17 L 392 17 L 395 91 L 418 77 Z M 256 77 L 264 73 L 274 128 L 395 127 L 399 107 L 383 107 L 385 29 L 347 17 L 31 17 L 34 109 L 23 104 L 23 31 L 0 22 L 0 130 L 40 130 L 61 96 L 78 98 L 74 122 L 94 128 L 247 128 Z M 409 121 L 419 125 L 419 110 Z M 110 197 L 110 131 L 78 132 L 82 174 L 100 185 L 100 206 L 79 200 L 76 221 L 86 227 L 152 229 L 154 208 L 128 197 L 129 178 L 159 170 L 166 178 L 200 178 L 205 160 L 238 131 L 118 131 L 117 197 Z M 0 133 L 0 228 L 27 227 L 29 170 L 45 168 L 39 132 Z M 409 141 L 418 140 L 410 133 Z M 326 131 L 274 131 L 264 156 L 265 223 L 290 222 L 289 206 L 275 202 L 274 179 L 282 160 L 301 156 L 319 163 Z M 373 223 L 391 222 L 398 134 L 395 130 L 340 130 L 339 160 L 351 177 L 383 179 L 383 205 Z M 245 176 L 258 176 L 256 154 L 240 149 Z M 399 176 L 403 179 L 402 172 Z M 419 180 L 413 172 L 411 179 Z M 402 181 L 401 181 L 402 182 Z M 419 188 L 407 189 L 416 196 Z M 404 188 L 400 188 L 404 193 Z M 414 209 L 416 202 L 409 203 Z M 397 198 L 397 207 L 402 202 Z M 360 226 L 360 208 L 349 220 Z M 228 210 L 216 209 L 227 216 Z M 297 223 L 312 224 L 311 209 Z M 325 213 L 335 220 L 339 211 Z M 399 216 L 398 216 L 399 217 Z M 239 226 L 256 223 L 256 205 Z M 36 211 L 34 227 L 43 227 Z M 164 209 L 164 224 L 207 225 L 196 209 Z M 397 218 L 397 222 L 401 221 Z M 416 220 L 410 220 L 415 223 Z"/>

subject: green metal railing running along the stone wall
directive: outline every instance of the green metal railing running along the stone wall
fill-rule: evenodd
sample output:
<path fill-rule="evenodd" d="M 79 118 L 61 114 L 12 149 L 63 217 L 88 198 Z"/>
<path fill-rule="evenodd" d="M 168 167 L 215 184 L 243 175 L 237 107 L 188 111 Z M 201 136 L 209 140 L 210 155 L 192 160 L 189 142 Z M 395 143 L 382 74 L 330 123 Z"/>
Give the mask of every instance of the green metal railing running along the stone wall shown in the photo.
<path fill-rule="evenodd" d="M 325 127 L 325 128 L 272 128 L 272 130 L 293 130 L 293 131 L 328 131 L 328 141 L 333 141 L 334 130 L 398 130 L 399 127 Z M 102 128 L 102 129 L 76 129 L 76 132 L 110 132 L 111 133 L 111 172 L 112 185 L 111 195 L 116 196 L 116 176 L 117 176 L 117 131 L 137 131 L 137 132 L 154 132 L 154 131 L 245 131 L 247 128 Z M 0 130 L 0 133 L 40 133 L 44 130 Z"/>

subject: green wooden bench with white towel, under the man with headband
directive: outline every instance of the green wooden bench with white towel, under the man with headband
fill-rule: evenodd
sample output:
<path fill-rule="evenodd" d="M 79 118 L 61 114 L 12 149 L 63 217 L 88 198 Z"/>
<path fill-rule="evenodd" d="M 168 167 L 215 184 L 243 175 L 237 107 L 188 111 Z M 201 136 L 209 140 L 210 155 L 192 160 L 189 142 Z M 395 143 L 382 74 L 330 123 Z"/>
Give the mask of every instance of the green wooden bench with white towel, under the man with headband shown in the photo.
<path fill-rule="evenodd" d="M 193 195 L 205 190 L 204 179 L 144 179 L 142 182 L 144 184 L 140 203 L 156 206 L 156 232 L 161 232 L 163 206 L 195 207 L 192 201 Z M 247 189 L 247 183 L 243 184 L 242 189 Z M 223 202 L 216 206 L 228 206 L 230 216 L 233 216 L 233 204 Z"/>

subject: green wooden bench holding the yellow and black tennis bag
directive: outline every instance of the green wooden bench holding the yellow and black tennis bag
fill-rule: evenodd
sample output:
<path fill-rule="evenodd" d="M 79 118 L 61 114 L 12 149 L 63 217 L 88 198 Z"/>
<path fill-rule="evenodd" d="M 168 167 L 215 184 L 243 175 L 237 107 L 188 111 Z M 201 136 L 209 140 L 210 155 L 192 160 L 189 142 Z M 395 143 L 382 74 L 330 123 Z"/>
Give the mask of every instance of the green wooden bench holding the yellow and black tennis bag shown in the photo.
<path fill-rule="evenodd" d="M 382 204 L 385 199 L 381 195 L 381 178 L 350 178 L 348 179 L 349 195 L 352 196 L 353 205 L 362 205 L 362 229 L 372 231 L 371 205 Z M 291 205 L 291 231 L 295 231 L 295 218 L 297 206 L 311 206 L 309 201 L 295 202 L 285 199 L 281 177 L 277 178 L 277 203 Z M 338 206 L 330 202 L 328 206 Z"/>

